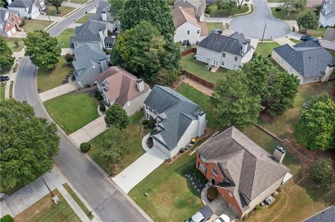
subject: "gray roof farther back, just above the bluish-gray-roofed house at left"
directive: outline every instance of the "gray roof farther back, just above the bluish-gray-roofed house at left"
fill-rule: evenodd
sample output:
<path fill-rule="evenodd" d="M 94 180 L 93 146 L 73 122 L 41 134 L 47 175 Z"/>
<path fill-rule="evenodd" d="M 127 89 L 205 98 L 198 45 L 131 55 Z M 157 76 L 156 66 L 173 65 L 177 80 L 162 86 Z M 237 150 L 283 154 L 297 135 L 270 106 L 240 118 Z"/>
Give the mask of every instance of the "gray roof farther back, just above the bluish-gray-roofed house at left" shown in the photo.
<path fill-rule="evenodd" d="M 88 21 L 82 26 L 75 27 L 75 37 L 72 42 L 94 42 L 100 41 L 99 30 L 103 32 L 107 29 L 106 24 Z"/>

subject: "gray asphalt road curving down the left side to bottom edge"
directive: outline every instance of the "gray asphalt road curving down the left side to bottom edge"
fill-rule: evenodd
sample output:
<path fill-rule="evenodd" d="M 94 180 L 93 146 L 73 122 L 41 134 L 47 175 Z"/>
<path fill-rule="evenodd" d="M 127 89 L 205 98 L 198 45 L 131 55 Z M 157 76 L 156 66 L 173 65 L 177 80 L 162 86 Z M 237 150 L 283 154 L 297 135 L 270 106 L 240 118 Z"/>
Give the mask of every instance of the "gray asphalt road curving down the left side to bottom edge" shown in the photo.
<path fill-rule="evenodd" d="M 87 8 L 77 13 L 84 13 L 85 10 Z M 66 21 L 70 22 L 73 17 L 83 15 L 77 15 L 77 13 L 54 26 L 50 30 L 52 34 L 61 33 L 70 24 L 66 24 Z M 35 73 L 36 66 L 31 63 L 29 57 L 22 58 L 15 82 L 15 99 L 27 100 L 34 107 L 36 116 L 52 121 L 48 118 L 38 98 Z M 147 214 L 142 212 L 142 209 L 135 205 L 126 193 L 120 191 L 109 178 L 99 171 L 63 132 L 59 131 L 58 134 L 61 138 L 60 150 L 57 157 L 54 157 L 57 167 L 103 221 L 151 221 Z"/>

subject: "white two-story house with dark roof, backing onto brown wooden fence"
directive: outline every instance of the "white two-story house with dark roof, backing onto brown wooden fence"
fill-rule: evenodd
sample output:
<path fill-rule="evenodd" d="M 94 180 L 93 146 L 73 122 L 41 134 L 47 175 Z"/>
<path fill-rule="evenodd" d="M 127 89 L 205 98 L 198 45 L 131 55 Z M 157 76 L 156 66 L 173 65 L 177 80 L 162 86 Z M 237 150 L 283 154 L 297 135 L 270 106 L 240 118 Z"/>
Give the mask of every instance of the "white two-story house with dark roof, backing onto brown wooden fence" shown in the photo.
<path fill-rule="evenodd" d="M 227 70 L 237 70 L 253 58 L 251 40 L 238 32 L 230 36 L 210 33 L 197 47 L 196 59 Z"/>

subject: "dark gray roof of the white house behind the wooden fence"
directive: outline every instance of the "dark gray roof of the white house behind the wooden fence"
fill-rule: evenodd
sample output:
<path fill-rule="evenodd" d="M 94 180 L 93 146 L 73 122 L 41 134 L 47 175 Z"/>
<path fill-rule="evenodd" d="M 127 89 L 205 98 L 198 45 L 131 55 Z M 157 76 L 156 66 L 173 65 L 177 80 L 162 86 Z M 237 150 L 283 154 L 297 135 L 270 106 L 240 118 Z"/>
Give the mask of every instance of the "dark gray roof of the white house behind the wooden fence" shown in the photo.
<path fill-rule="evenodd" d="M 198 44 L 198 46 L 214 51 L 225 51 L 237 56 L 242 56 L 242 45 L 244 42 L 250 42 L 250 39 L 245 38 L 244 34 L 239 34 L 238 32 L 232 33 L 229 37 L 210 33 Z M 251 49 L 250 44 L 248 45 L 248 50 L 249 49 Z"/>

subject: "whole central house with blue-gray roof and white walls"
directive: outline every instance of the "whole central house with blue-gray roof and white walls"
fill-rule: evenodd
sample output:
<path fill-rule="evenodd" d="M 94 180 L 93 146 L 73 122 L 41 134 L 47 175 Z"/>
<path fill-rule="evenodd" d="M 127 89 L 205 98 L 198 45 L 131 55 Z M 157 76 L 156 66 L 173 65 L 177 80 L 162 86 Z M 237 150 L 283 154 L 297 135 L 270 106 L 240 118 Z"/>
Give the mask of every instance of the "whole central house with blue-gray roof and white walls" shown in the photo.
<path fill-rule="evenodd" d="M 144 108 L 145 118 L 156 122 L 156 130 L 150 134 L 154 146 L 168 157 L 174 157 L 206 129 L 206 112 L 167 86 L 155 85 L 144 101 Z"/>

